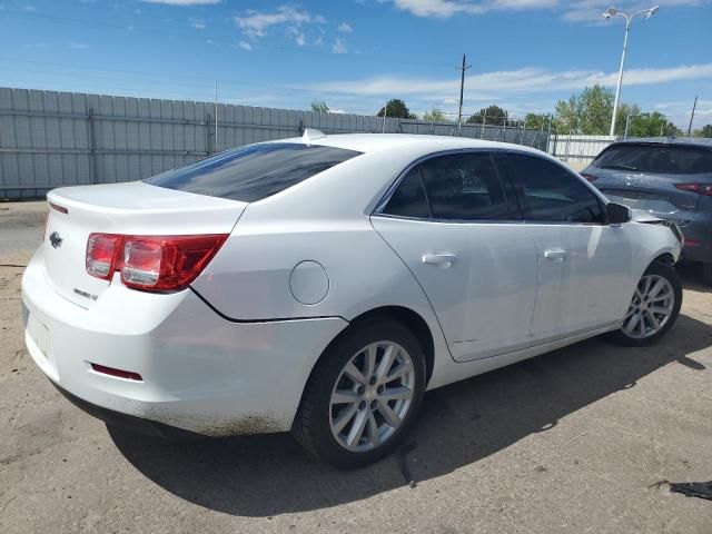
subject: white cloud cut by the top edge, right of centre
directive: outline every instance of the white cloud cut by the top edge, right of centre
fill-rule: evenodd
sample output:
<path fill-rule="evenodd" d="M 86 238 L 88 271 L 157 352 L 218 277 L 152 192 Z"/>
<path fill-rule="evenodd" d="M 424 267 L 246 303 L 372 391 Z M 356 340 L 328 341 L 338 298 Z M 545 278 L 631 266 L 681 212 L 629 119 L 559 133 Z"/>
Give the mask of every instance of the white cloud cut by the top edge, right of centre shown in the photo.
<path fill-rule="evenodd" d="M 386 1 L 386 0 L 384 0 Z M 564 20 L 573 22 L 594 22 L 603 20 L 601 13 L 611 4 L 611 0 L 389 0 L 394 6 L 416 17 L 447 19 L 456 14 L 481 14 L 488 11 L 533 11 L 553 9 Z M 647 8 L 651 2 L 636 1 L 632 9 Z M 655 2 L 653 2 L 655 3 Z M 661 7 L 700 6 L 709 0 L 657 0 Z"/>

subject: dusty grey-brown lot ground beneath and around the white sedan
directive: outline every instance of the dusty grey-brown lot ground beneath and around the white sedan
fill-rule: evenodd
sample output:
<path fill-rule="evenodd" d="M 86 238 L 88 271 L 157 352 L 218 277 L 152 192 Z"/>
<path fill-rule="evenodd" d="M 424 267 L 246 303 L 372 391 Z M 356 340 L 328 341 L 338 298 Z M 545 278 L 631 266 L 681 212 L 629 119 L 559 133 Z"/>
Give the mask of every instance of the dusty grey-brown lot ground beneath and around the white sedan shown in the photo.
<path fill-rule="evenodd" d="M 427 395 L 415 448 L 342 473 L 288 435 L 167 444 L 65 400 L 24 350 L 40 204 L 0 204 L 0 532 L 704 533 L 712 295 L 647 349 L 590 340 Z M 404 463 L 417 482 L 409 487 Z"/>

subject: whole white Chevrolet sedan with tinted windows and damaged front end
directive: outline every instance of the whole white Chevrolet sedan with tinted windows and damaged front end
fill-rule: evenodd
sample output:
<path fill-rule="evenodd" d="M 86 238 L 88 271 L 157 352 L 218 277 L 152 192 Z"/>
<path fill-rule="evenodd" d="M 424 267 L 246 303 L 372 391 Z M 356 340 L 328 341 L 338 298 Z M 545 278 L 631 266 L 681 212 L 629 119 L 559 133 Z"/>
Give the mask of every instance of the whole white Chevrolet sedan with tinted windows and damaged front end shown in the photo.
<path fill-rule="evenodd" d="M 291 431 L 342 467 L 426 389 L 652 343 L 682 301 L 676 227 L 513 145 L 307 130 L 48 201 L 22 300 L 60 392 L 159 435 Z"/>

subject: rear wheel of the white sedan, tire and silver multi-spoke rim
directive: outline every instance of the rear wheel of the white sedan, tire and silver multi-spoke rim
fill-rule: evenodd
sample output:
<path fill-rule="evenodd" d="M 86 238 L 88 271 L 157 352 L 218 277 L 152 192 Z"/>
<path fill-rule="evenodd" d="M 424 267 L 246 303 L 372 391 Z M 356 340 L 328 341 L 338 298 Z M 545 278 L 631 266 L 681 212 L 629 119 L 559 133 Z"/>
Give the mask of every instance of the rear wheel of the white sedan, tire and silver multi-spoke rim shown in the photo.
<path fill-rule="evenodd" d="M 369 354 L 374 362 L 370 373 Z M 388 380 L 399 373 L 405 374 Z M 352 377 L 359 374 L 359 379 Z M 370 464 L 389 454 L 412 427 L 425 383 L 423 347 L 405 325 L 383 318 L 354 323 L 327 347 L 313 369 L 293 434 L 304 448 L 336 467 Z M 343 398 L 348 403 L 335 403 Z M 350 443 L 352 436 L 358 437 Z"/>

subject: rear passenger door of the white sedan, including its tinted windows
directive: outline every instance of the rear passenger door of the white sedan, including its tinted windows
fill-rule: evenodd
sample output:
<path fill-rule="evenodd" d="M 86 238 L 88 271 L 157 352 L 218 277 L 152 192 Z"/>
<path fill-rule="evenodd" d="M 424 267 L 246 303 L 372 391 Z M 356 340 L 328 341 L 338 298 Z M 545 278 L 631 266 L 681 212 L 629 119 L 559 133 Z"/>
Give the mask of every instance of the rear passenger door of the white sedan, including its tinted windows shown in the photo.
<path fill-rule="evenodd" d="M 423 287 L 464 362 L 522 346 L 536 296 L 536 248 L 484 151 L 412 168 L 372 224 Z"/>

